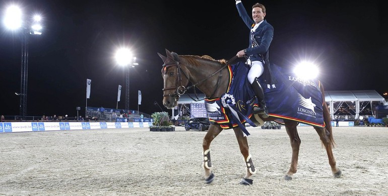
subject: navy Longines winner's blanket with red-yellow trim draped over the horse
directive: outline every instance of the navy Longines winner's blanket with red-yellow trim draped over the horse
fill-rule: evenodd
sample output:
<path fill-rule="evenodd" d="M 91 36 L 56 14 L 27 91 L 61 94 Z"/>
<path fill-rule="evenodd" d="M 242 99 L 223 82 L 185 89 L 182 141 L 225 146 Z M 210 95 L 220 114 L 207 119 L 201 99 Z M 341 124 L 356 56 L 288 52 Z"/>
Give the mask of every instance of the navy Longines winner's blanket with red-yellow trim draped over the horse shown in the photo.
<path fill-rule="evenodd" d="M 305 80 L 295 76 L 291 71 L 272 64 L 274 77 L 278 83 L 268 85 L 259 81 L 264 88 L 269 115 L 282 119 L 325 127 L 323 119 L 323 99 L 319 90 L 319 80 Z M 229 87 L 226 93 L 213 100 L 205 100 L 209 120 L 219 124 L 223 129 L 240 126 L 246 135 L 242 123 L 255 126 L 249 118 L 257 99 L 251 84 L 247 80 L 249 66 L 243 62 L 228 66 Z"/>

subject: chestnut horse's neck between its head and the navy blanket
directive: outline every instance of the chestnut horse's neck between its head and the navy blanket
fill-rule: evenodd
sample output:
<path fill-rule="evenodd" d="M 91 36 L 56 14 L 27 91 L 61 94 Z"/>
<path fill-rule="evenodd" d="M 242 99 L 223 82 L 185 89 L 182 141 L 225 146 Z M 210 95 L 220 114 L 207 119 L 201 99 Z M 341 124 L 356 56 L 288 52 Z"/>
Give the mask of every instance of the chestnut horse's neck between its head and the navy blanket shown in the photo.
<path fill-rule="evenodd" d="M 205 93 L 206 97 L 220 97 L 223 93 L 226 92 L 228 87 L 227 85 L 229 83 L 229 74 L 227 68 L 224 68 L 213 76 L 209 77 L 225 64 L 222 64 L 218 61 L 202 59 L 200 57 L 185 59 L 185 61 L 181 64 L 184 65 L 182 68 L 189 77 L 189 81 L 192 84 L 196 84 L 197 82 L 207 78 L 203 82 L 196 84 L 196 87 Z M 221 77 L 220 74 L 222 74 Z"/>

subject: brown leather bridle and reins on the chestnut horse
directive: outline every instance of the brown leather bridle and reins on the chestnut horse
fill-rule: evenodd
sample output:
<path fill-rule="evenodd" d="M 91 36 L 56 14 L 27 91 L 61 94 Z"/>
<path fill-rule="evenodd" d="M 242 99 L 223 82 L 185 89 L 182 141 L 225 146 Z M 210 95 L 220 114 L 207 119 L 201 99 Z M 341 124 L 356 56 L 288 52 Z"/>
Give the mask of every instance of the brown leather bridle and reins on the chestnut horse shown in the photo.
<path fill-rule="evenodd" d="M 214 73 L 210 74 L 209 76 L 205 77 L 204 79 L 188 86 L 188 87 L 185 87 L 184 85 L 182 85 L 182 77 L 181 77 L 181 73 L 184 74 L 184 76 L 187 78 L 187 80 L 189 81 L 188 79 L 188 76 L 187 74 L 182 70 L 181 68 L 181 65 L 179 64 L 179 61 L 175 61 L 175 60 L 171 60 L 171 59 L 167 59 L 166 62 L 163 64 L 163 68 L 162 68 L 162 72 L 163 70 L 166 71 L 167 73 L 167 69 L 171 66 L 175 66 L 176 67 L 176 79 L 175 79 L 175 86 L 174 87 L 167 87 L 167 88 L 163 88 L 163 92 L 166 91 L 166 90 L 171 90 L 171 89 L 175 89 L 175 92 L 174 93 L 169 93 L 169 94 L 163 94 L 163 97 L 166 97 L 166 96 L 172 96 L 174 97 L 176 100 L 179 100 L 180 98 L 180 95 L 184 94 L 187 92 L 187 90 L 191 89 L 191 88 L 194 88 L 194 93 L 196 95 L 196 98 L 193 98 L 190 96 L 190 94 L 187 94 L 193 101 L 202 101 L 202 100 L 205 100 L 205 99 L 209 99 L 210 97 L 213 97 L 213 95 L 216 93 L 218 87 L 219 87 L 219 84 L 220 84 L 220 80 L 221 80 L 221 77 L 222 77 L 222 70 L 224 68 L 226 68 L 230 62 L 234 61 L 235 59 L 237 58 L 237 56 L 234 56 L 232 57 L 230 60 L 228 60 L 224 66 L 222 66 L 220 69 L 218 69 L 217 71 L 215 71 Z M 167 61 L 170 60 L 170 61 L 173 61 L 171 63 L 167 63 Z M 210 77 L 216 75 L 217 73 L 220 73 L 218 78 L 217 78 L 217 84 L 216 84 L 216 87 L 214 88 L 214 91 L 212 93 L 212 95 L 208 96 L 208 97 L 204 97 L 203 99 L 199 99 L 198 95 L 197 95 L 197 92 L 196 92 L 196 85 L 198 84 L 201 84 L 202 82 L 206 81 L 207 79 L 209 79 Z"/>

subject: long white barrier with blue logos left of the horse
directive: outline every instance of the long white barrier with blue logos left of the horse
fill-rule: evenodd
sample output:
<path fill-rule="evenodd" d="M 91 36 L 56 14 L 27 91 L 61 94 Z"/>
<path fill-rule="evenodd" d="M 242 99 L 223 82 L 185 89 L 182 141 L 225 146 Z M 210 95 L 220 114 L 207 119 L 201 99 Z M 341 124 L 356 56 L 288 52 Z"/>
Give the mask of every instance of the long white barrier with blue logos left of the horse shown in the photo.
<path fill-rule="evenodd" d="M 152 122 L 11 122 L 0 123 L 0 133 L 150 127 Z"/>

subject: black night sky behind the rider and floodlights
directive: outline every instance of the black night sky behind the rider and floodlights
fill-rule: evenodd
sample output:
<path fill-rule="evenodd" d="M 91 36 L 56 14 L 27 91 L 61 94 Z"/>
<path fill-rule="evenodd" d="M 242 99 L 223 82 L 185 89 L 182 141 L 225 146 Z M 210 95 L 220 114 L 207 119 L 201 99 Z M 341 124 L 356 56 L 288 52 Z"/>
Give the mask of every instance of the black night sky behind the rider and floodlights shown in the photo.
<path fill-rule="evenodd" d="M 119 46 L 131 47 L 140 66 L 130 72 L 130 108 L 159 112 L 165 49 L 178 54 L 230 59 L 248 46 L 248 29 L 229 1 L 14 1 L 28 14 L 40 12 L 43 34 L 29 39 L 27 115 L 85 114 L 90 107 L 124 108 L 125 77 L 115 64 Z M 211 2 L 211 3 L 208 3 Z M 257 1 L 245 1 L 248 13 Z M 5 29 L 0 2 L 0 113 L 19 115 L 21 43 Z M 383 1 L 260 1 L 274 27 L 272 63 L 315 60 L 326 90 L 388 91 L 388 14 Z M 26 13 L 27 14 L 27 13 Z M 166 109 L 164 109 L 167 111 Z M 83 115 L 84 116 L 84 115 Z"/>

